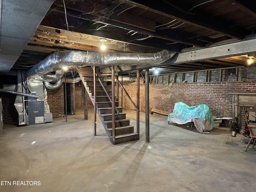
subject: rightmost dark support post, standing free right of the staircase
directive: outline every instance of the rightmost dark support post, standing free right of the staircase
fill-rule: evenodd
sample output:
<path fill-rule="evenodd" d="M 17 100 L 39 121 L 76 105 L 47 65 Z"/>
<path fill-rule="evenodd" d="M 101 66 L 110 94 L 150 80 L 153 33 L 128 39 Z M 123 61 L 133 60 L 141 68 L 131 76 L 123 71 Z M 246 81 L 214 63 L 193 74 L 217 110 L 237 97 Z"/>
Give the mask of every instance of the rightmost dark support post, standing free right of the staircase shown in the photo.
<path fill-rule="evenodd" d="M 145 126 L 146 142 L 149 142 L 149 69 L 145 70 Z"/>

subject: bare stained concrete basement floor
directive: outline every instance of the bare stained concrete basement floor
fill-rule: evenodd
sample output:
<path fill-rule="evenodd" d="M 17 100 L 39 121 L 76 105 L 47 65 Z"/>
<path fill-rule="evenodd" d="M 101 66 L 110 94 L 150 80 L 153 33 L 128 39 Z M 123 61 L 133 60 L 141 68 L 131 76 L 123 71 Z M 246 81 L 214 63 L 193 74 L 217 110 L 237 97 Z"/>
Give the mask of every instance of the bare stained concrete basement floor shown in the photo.
<path fill-rule="evenodd" d="M 230 146 L 225 129 L 201 134 L 195 128 L 169 125 L 167 117 L 150 115 L 146 143 L 141 113 L 140 140 L 112 145 L 101 123 L 98 136 L 93 135 L 92 110 L 89 120 L 82 120 L 83 111 L 77 110 L 68 122 L 54 118 L 25 127 L 4 125 L 0 192 L 256 191 L 256 149 L 244 151 L 242 134 L 233 137 L 238 145 Z M 135 124 L 136 112 L 125 111 Z"/>

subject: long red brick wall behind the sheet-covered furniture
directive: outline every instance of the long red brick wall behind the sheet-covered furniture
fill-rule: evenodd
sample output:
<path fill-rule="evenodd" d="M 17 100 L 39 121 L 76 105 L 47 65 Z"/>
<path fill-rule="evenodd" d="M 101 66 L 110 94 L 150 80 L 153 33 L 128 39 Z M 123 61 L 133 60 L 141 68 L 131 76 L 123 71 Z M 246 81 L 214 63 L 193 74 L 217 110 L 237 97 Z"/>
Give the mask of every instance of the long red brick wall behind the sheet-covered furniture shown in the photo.
<path fill-rule="evenodd" d="M 136 103 L 136 83 L 124 85 L 126 91 Z M 232 92 L 255 92 L 256 82 L 209 82 L 209 83 L 176 83 L 149 85 L 149 108 L 173 111 L 176 102 L 188 106 L 207 104 L 214 115 L 232 117 Z M 145 111 L 145 86 L 140 84 L 140 110 Z M 120 97 L 121 100 L 121 97 Z M 134 109 L 125 94 L 123 106 Z"/>

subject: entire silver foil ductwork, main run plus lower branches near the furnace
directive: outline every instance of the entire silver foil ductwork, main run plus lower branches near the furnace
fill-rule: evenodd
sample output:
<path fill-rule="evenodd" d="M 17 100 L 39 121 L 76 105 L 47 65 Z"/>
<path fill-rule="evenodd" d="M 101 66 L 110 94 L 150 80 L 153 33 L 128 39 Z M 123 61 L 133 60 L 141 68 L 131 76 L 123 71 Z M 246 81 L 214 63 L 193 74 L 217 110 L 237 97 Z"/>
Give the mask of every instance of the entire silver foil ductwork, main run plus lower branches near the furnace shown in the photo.
<path fill-rule="evenodd" d="M 83 51 L 56 51 L 44 60 L 33 66 L 26 72 L 28 84 L 40 84 L 50 90 L 59 88 L 65 79 L 63 78 L 64 66 L 116 66 L 123 64 L 159 64 L 172 58 L 176 52 L 162 50 L 157 53 L 115 53 L 102 54 Z M 52 74 L 51 72 L 55 72 Z M 80 77 L 75 79 L 66 78 L 67 83 L 76 83 Z M 127 81 L 136 81 L 130 78 Z M 54 84 L 52 84 L 54 83 Z M 45 113 L 50 112 L 47 104 L 47 92 L 44 90 L 44 101 L 46 101 Z"/>

